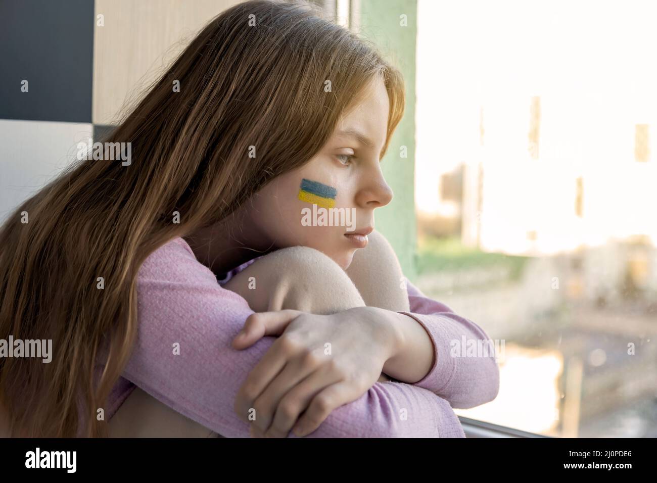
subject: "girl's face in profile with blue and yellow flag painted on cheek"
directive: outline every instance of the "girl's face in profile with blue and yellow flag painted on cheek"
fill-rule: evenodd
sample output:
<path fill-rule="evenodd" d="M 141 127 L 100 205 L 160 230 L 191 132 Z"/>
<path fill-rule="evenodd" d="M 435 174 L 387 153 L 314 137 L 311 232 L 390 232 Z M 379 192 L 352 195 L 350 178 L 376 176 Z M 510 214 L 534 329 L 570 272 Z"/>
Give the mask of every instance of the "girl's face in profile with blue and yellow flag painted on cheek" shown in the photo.
<path fill-rule="evenodd" d="M 378 78 L 316 156 L 276 177 L 244 204 L 259 236 L 274 248 L 315 248 L 349 267 L 374 229 L 374 208 L 392 200 L 379 159 L 389 106 Z"/>

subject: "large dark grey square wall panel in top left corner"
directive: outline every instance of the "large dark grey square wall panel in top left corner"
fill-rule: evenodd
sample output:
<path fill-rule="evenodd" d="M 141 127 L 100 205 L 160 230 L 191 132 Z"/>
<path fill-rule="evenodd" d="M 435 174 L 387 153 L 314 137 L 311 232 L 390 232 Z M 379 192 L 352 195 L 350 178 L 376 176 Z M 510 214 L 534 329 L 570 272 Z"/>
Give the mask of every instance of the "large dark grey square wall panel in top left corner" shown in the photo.
<path fill-rule="evenodd" d="M 0 0 L 0 118 L 91 122 L 93 29 L 93 0 Z"/>

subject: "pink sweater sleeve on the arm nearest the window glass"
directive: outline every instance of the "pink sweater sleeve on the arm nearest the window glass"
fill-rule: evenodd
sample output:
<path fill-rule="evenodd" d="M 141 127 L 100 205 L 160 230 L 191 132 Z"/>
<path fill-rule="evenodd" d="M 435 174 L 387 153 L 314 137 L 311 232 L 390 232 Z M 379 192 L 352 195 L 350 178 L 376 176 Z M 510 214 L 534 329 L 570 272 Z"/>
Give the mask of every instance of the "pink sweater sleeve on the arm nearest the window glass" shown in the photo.
<path fill-rule="evenodd" d="M 476 357 L 452 356 L 451 347 L 468 341 L 489 340 L 476 323 L 457 315 L 445 304 L 427 298 L 407 281 L 410 311 L 399 312 L 413 317 L 429 334 L 434 345 L 434 365 L 414 386 L 430 390 L 445 398 L 451 407 L 466 409 L 497 397 L 499 368 L 492 351 Z"/>

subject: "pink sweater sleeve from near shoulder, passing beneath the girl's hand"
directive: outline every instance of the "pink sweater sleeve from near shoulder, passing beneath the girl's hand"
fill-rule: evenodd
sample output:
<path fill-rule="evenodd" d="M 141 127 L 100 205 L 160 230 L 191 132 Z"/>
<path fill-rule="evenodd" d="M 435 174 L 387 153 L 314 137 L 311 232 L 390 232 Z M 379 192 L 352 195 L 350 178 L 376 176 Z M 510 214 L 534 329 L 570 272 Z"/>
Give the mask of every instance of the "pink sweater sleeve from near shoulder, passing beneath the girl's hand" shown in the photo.
<path fill-rule="evenodd" d="M 175 239 L 137 277 L 139 329 L 123 376 L 179 413 L 226 437 L 248 437 L 233 405 L 238 388 L 275 338 L 245 350 L 231 341 L 252 310 Z M 290 432 L 290 437 L 296 437 Z M 306 437 L 460 437 L 449 403 L 402 382 L 376 382 Z"/>

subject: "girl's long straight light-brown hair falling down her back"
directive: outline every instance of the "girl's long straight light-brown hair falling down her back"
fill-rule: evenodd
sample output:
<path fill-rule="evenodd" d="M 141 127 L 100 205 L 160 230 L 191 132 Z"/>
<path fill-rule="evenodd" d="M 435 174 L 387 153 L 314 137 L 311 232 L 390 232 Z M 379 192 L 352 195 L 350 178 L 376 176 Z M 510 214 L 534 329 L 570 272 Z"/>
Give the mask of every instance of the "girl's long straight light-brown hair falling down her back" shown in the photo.
<path fill-rule="evenodd" d="M 52 339 L 53 359 L 0 359 L 12 435 L 106 436 L 96 408 L 135 343 L 145 258 L 306 163 L 375 76 L 390 98 L 386 152 L 404 110 L 396 68 L 304 1 L 235 5 L 104 140 L 131 143 L 129 166 L 82 160 L 24 202 L 0 229 L 0 338 Z M 103 347 L 108 358 L 95 381 Z"/>

